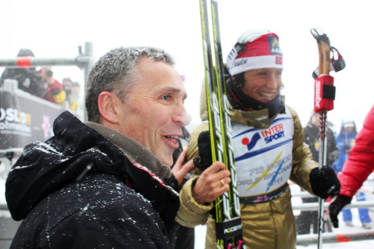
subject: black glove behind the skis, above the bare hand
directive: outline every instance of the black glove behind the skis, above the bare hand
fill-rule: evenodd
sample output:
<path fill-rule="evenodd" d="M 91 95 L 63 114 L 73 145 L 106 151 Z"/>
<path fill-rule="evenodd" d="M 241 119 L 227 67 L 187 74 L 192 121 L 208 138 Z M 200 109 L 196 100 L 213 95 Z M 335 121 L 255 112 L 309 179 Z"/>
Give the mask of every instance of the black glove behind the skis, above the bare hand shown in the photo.
<path fill-rule="evenodd" d="M 197 146 L 199 147 L 200 158 L 195 158 L 193 163 L 201 171 L 204 171 L 212 164 L 212 150 L 210 146 L 210 132 L 203 131 L 199 134 L 197 139 Z"/>

